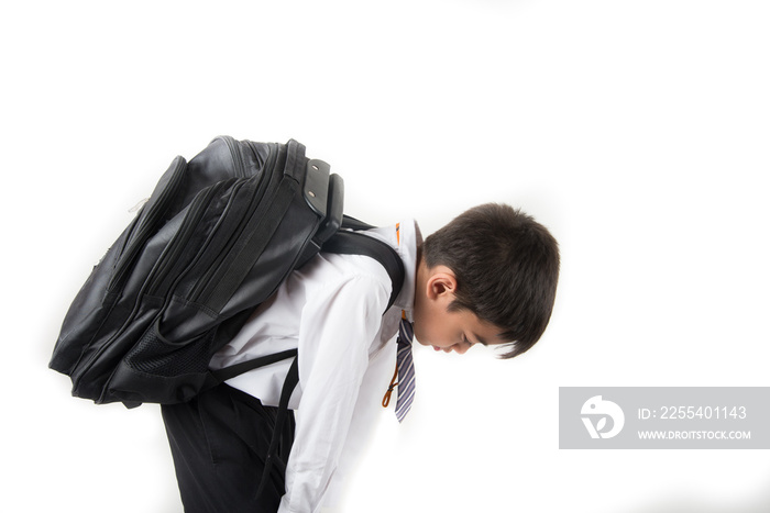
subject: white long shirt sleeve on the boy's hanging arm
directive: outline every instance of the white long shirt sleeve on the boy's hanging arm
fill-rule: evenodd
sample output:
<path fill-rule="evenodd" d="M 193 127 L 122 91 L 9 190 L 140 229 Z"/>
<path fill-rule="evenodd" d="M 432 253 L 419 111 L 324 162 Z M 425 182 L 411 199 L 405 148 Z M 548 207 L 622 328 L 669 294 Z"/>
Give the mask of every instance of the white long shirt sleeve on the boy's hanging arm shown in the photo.
<path fill-rule="evenodd" d="M 382 281 L 355 276 L 314 294 L 302 310 L 298 353 L 302 397 L 279 513 L 320 511 L 388 294 Z"/>

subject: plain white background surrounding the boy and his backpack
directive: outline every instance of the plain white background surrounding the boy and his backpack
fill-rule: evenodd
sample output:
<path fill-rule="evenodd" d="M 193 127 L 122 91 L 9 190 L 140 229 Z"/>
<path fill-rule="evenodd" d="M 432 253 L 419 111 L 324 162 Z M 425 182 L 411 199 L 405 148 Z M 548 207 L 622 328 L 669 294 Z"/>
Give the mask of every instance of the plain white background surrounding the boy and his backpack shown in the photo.
<path fill-rule="evenodd" d="M 28 1 L 0 12 L 0 510 L 178 512 L 157 406 L 69 398 L 66 309 L 170 159 L 216 135 L 331 163 L 426 234 L 486 201 L 561 244 L 510 361 L 417 353 L 340 512 L 768 512 L 767 450 L 558 448 L 558 388 L 768 386 L 763 1 Z M 389 412 L 388 412 L 389 413 Z M 399 444 L 399 445 L 397 445 Z M 400 472 L 400 473 L 399 473 Z"/>

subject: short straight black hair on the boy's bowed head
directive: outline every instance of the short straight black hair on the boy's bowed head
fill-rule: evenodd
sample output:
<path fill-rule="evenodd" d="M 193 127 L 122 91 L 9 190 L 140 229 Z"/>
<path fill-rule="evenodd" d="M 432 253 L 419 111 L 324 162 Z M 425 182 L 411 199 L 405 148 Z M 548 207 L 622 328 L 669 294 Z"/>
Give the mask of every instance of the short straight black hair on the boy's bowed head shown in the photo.
<path fill-rule="evenodd" d="M 469 310 L 502 330 L 513 358 L 540 339 L 559 281 L 559 245 L 531 216 L 487 203 L 457 216 L 428 236 L 422 258 L 443 265 L 458 281 L 450 311 Z"/>

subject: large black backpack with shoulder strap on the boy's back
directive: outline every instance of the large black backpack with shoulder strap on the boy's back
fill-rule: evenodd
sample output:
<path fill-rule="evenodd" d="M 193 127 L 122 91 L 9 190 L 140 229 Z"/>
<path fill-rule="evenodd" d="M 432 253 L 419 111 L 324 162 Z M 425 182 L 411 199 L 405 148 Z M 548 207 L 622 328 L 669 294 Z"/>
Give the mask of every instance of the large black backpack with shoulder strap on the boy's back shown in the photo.
<path fill-rule="evenodd" d="M 403 263 L 372 226 L 343 213 L 343 181 L 305 147 L 220 136 L 176 157 L 91 271 L 62 324 L 50 367 L 96 403 L 173 404 L 296 349 L 211 371 L 212 355 L 294 269 L 320 250 L 377 259 L 393 282 Z M 342 228 L 342 230 L 341 230 Z M 348 230 L 350 228 L 350 230 Z"/>

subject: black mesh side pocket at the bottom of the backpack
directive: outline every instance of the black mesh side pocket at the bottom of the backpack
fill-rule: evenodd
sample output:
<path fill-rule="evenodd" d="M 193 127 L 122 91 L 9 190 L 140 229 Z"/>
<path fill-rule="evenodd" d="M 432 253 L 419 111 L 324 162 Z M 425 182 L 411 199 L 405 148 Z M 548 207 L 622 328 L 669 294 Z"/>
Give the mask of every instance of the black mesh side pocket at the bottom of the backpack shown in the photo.
<path fill-rule="evenodd" d="M 164 378 L 206 372 L 215 334 L 216 330 L 209 330 L 188 343 L 173 344 L 158 334 L 154 325 L 125 356 L 125 363 L 140 372 Z"/>

